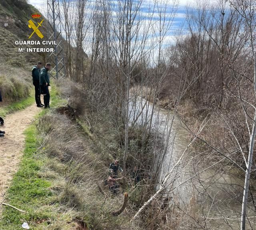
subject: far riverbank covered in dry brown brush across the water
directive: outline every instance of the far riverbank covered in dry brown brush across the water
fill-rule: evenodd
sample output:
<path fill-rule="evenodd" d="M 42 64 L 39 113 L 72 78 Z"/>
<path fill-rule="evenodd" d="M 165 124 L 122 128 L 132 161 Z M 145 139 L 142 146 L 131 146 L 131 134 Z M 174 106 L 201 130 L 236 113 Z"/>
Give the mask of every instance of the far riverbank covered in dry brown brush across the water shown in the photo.
<path fill-rule="evenodd" d="M 168 97 L 165 94 L 155 95 L 155 89 L 150 87 L 140 88 L 140 85 L 131 88 L 131 94 L 142 95 L 145 100 L 150 103 L 155 103 L 155 108 L 163 109 L 173 113 L 175 110 L 176 117 L 178 117 L 179 125 L 187 130 L 187 137 L 196 135 L 197 130 L 202 125 L 203 130 L 200 132 L 200 138 L 198 138 L 192 148 L 194 153 L 203 152 L 201 157 L 208 159 L 206 162 L 208 165 L 216 163 L 222 158 L 222 154 L 229 155 L 230 159 L 223 160 L 220 165 L 228 168 L 235 167 L 245 168 L 245 163 L 242 155 L 248 154 L 248 149 L 244 149 L 244 153 L 241 153 L 240 147 L 246 148 L 250 140 L 248 139 L 248 127 L 246 119 L 238 110 L 239 104 L 230 106 L 224 105 L 220 108 L 217 105 L 212 106 L 200 106 L 196 105 L 189 98 L 181 98 L 179 102 L 173 97 Z M 155 98 L 154 98 L 155 97 Z M 233 130 L 231 130 L 231 127 Z M 240 147 L 239 147 L 240 146 Z M 236 148 L 236 151 L 229 149 Z M 218 149 L 218 151 L 216 151 Z M 217 154 L 216 154 L 217 153 Z M 234 164 L 236 162 L 236 164 Z M 253 167 L 256 167 L 254 164 Z M 253 170 L 252 175 L 254 175 Z"/>

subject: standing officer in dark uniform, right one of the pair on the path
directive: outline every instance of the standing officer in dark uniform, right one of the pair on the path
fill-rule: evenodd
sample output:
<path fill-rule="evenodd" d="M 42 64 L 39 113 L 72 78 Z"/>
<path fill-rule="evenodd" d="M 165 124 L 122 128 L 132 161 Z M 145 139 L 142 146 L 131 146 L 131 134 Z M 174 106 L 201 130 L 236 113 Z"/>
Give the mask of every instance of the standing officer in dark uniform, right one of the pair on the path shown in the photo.
<path fill-rule="evenodd" d="M 46 63 L 45 67 L 41 69 L 40 72 L 40 89 L 41 94 L 44 95 L 44 108 L 50 108 L 50 77 L 48 71 L 51 69 L 51 64 Z"/>

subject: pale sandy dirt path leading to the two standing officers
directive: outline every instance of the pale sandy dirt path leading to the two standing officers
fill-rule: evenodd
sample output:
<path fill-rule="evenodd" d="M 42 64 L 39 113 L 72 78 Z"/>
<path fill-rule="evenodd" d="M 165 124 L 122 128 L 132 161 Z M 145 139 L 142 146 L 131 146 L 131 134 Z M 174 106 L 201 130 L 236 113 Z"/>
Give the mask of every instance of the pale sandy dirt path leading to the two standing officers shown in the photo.
<path fill-rule="evenodd" d="M 0 138 L 0 202 L 18 169 L 25 144 L 24 130 L 41 110 L 42 108 L 33 104 L 24 110 L 9 114 L 5 118 L 5 125 L 0 126 L 0 129 L 6 132 L 5 137 Z"/>

